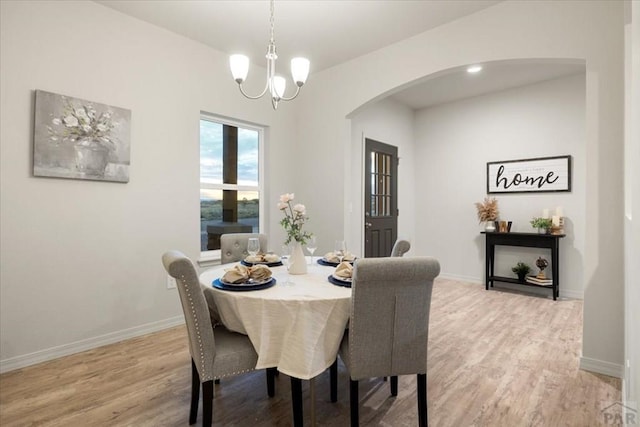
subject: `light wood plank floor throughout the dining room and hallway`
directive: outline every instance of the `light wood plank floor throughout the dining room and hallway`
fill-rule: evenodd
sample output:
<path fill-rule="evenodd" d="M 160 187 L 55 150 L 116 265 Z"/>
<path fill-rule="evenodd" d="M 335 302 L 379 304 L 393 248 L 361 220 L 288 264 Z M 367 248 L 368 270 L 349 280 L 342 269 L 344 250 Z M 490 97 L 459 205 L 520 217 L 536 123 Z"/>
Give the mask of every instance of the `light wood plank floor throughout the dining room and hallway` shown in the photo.
<path fill-rule="evenodd" d="M 452 426 L 597 426 L 621 399 L 619 379 L 578 369 L 582 301 L 558 300 L 438 279 L 428 356 L 429 423 Z M 186 426 L 190 359 L 183 327 L 64 357 L 0 376 L 0 425 Z M 316 381 L 317 424 L 349 422 L 348 377 L 338 403 L 328 373 Z M 305 424 L 309 384 L 303 382 Z M 269 399 L 264 371 L 216 385 L 214 424 L 291 425 L 289 378 Z M 417 424 L 415 380 L 362 381 L 363 426 Z M 202 404 L 200 404 L 200 411 Z M 201 423 L 201 415 L 198 416 Z"/>

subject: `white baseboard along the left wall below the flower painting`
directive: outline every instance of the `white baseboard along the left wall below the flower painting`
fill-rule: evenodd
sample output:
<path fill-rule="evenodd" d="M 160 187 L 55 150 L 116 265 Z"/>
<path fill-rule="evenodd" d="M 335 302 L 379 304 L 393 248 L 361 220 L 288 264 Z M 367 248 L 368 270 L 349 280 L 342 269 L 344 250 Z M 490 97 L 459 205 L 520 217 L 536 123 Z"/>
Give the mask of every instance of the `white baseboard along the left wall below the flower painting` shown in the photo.
<path fill-rule="evenodd" d="M 183 324 L 184 316 L 176 316 L 157 322 L 147 323 L 145 325 L 124 329 L 122 331 L 111 332 L 98 337 L 92 337 L 85 340 L 39 350 L 33 353 L 16 356 L 5 360 L 0 360 L 0 374 L 13 371 L 15 369 L 24 368 L 26 366 L 35 365 L 36 363 L 46 362 L 48 360 L 57 359 L 58 357 L 80 353 L 81 351 L 91 350 L 97 347 L 102 347 L 103 345 L 113 344 L 129 338 L 139 337 L 141 335 L 150 334 L 152 332 L 161 331 Z"/>

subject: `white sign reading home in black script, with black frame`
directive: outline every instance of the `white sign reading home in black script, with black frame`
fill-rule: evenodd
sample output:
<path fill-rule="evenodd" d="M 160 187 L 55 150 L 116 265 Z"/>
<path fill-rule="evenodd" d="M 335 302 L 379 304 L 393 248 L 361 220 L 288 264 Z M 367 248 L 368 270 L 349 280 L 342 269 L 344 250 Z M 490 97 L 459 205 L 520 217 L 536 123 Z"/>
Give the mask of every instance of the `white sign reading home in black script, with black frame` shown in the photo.
<path fill-rule="evenodd" d="M 487 193 L 571 191 L 571 156 L 487 162 Z"/>

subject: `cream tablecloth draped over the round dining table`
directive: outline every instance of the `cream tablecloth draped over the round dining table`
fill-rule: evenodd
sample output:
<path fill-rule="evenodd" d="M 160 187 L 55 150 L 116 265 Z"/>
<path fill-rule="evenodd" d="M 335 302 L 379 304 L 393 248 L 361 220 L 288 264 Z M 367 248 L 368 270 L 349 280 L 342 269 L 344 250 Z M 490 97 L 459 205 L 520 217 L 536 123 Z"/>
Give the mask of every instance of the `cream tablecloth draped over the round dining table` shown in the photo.
<path fill-rule="evenodd" d="M 204 271 L 206 285 L 222 323 L 246 334 L 258 353 L 257 369 L 277 367 L 292 377 L 310 379 L 335 360 L 351 309 L 351 289 L 329 283 L 335 270 L 318 264 L 305 275 L 291 275 L 284 286 L 284 267 L 272 267 L 276 285 L 257 291 L 225 291 L 212 282 L 235 264 Z"/>

